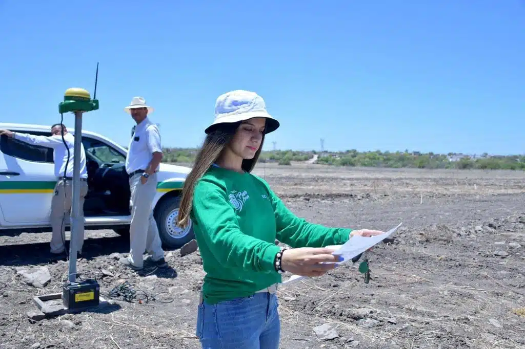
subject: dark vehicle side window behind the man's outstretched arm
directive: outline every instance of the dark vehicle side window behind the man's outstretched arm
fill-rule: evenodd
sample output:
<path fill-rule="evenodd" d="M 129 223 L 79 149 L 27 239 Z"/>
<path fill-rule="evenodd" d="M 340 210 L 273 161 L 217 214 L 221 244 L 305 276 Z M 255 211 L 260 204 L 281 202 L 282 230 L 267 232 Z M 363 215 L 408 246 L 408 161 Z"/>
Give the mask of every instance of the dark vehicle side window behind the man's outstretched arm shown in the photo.
<path fill-rule="evenodd" d="M 50 136 L 51 133 L 45 132 L 28 132 L 20 131 L 20 133 L 29 133 L 32 135 Z M 24 159 L 33 162 L 50 162 L 53 163 L 53 148 L 36 146 L 24 143 L 21 140 L 9 138 L 7 136 L 0 137 L 0 150 L 5 155 L 12 156 L 19 159 Z"/>

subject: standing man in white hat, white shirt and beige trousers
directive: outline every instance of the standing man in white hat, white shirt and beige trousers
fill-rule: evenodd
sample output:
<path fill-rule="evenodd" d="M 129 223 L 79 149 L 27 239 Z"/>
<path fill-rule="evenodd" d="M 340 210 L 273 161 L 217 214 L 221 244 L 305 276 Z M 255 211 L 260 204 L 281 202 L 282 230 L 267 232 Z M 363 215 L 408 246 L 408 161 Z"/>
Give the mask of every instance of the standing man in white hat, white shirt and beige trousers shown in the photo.
<path fill-rule="evenodd" d="M 151 208 L 157 192 L 157 174 L 162 160 L 159 127 L 148 118 L 153 108 L 142 97 L 133 97 L 124 108 L 137 123 L 131 137 L 126 157 L 126 172 L 131 191 L 130 254 L 120 258 L 120 263 L 132 269 L 142 269 L 142 255 L 148 252 L 155 266 L 165 267 L 164 251 L 159 228 Z"/>

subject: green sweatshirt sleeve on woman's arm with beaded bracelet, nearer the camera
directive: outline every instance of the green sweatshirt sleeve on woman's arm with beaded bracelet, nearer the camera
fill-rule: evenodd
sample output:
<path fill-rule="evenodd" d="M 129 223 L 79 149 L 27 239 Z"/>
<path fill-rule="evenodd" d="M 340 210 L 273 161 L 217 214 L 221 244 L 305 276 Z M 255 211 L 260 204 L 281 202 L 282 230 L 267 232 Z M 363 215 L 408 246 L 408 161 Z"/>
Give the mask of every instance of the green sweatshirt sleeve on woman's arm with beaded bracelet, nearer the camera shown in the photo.
<path fill-rule="evenodd" d="M 199 226 L 202 241 L 218 262 L 227 267 L 257 272 L 277 272 L 279 247 L 240 231 L 237 216 L 226 191 L 217 183 L 199 181 L 193 199 L 192 220 Z"/>

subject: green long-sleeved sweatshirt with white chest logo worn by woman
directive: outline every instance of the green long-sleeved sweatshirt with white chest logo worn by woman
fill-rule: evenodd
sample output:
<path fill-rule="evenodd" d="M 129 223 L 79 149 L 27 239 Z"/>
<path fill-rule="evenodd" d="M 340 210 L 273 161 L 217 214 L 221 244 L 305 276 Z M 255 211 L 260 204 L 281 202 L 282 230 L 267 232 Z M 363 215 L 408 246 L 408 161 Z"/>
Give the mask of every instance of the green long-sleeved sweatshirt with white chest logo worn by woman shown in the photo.
<path fill-rule="evenodd" d="M 281 282 L 275 239 L 291 247 L 344 244 L 349 228 L 311 224 L 290 212 L 263 179 L 211 167 L 197 182 L 191 212 L 207 303 L 246 297 Z"/>

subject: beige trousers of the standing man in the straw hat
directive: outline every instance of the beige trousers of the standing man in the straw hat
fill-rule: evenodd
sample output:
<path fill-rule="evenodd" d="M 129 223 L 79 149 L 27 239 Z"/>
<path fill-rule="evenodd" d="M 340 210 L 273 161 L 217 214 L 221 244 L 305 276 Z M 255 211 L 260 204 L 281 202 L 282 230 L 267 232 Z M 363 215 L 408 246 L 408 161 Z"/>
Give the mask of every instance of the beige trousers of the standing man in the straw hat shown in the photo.
<path fill-rule="evenodd" d="M 152 260 L 164 258 L 159 228 L 153 217 L 151 205 L 157 192 L 157 174 L 153 173 L 145 184 L 142 184 L 141 174 L 130 178 L 131 191 L 131 224 L 130 224 L 130 256 L 132 265 L 142 268 L 142 255 L 148 252 Z"/>

